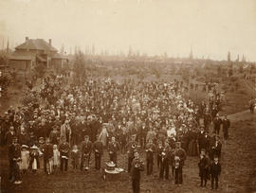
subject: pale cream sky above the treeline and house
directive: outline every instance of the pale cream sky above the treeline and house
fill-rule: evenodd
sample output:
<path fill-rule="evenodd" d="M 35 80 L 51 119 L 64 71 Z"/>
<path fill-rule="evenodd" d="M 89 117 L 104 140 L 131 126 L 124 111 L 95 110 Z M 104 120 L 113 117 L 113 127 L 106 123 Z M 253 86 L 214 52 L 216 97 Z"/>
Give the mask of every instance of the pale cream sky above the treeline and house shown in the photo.
<path fill-rule="evenodd" d="M 256 61 L 256 0 L 0 0 L 0 48 L 52 39 L 97 53 Z"/>

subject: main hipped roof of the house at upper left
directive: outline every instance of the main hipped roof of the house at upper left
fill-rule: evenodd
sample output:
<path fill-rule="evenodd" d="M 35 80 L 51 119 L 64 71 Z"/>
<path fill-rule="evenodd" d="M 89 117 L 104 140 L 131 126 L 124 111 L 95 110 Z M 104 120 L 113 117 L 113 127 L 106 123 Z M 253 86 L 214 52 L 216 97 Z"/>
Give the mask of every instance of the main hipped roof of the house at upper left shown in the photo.
<path fill-rule="evenodd" d="M 37 50 L 48 50 L 48 51 L 58 51 L 52 45 L 46 43 L 43 39 L 28 39 L 24 44 L 20 44 L 15 47 L 15 49 L 37 49 Z"/>

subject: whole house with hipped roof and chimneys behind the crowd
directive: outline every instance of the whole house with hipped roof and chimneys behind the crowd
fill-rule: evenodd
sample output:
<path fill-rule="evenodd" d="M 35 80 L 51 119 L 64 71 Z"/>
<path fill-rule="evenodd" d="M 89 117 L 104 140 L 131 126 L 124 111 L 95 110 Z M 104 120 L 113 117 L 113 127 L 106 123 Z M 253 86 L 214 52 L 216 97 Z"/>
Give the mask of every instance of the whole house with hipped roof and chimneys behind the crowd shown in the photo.
<path fill-rule="evenodd" d="M 16 46 L 15 51 L 9 55 L 9 68 L 23 71 L 30 71 L 39 64 L 58 72 L 67 62 L 68 60 L 52 46 L 51 39 L 47 43 L 44 39 L 26 37 L 25 43 Z"/>

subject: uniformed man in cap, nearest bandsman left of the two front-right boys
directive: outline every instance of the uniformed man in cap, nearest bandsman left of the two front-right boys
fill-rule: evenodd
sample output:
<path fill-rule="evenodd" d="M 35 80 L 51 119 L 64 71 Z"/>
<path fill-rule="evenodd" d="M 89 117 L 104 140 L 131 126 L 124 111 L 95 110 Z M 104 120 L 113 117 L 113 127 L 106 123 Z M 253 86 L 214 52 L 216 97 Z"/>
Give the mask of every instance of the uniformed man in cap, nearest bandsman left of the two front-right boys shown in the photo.
<path fill-rule="evenodd" d="M 182 174 L 182 167 L 184 166 L 185 160 L 187 158 L 186 151 L 181 148 L 181 143 L 176 142 L 176 148 L 174 149 L 174 157 L 176 157 L 176 161 L 178 161 L 178 167 L 176 170 L 177 175 L 175 175 L 175 184 L 182 184 L 183 183 L 183 174 Z"/>

